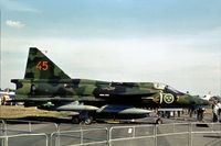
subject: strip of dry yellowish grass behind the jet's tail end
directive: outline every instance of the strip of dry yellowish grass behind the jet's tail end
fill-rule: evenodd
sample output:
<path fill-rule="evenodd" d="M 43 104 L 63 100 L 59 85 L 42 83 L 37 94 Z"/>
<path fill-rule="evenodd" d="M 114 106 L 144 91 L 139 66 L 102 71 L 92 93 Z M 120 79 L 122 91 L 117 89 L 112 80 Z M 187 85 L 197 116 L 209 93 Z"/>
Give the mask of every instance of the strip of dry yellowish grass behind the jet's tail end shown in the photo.
<path fill-rule="evenodd" d="M 64 113 L 55 111 L 39 110 L 36 108 L 24 108 L 21 105 L 0 105 L 0 119 L 21 119 L 28 116 L 60 117 Z"/>

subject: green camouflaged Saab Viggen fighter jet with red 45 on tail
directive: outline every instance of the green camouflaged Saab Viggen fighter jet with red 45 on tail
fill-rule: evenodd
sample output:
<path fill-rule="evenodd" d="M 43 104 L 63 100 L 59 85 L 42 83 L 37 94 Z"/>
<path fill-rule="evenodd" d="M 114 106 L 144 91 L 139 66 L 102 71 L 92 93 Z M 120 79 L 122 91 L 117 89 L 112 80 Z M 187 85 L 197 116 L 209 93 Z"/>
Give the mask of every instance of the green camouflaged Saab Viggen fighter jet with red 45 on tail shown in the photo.
<path fill-rule="evenodd" d="M 147 108 L 208 104 L 199 97 L 164 83 L 71 79 L 35 47 L 29 50 L 24 79 L 12 79 L 11 82 L 17 86 L 14 101 L 44 110 L 75 111 L 78 116 L 73 116 L 73 121 L 84 120 L 85 123 L 97 116 L 145 117 L 150 112 Z"/>

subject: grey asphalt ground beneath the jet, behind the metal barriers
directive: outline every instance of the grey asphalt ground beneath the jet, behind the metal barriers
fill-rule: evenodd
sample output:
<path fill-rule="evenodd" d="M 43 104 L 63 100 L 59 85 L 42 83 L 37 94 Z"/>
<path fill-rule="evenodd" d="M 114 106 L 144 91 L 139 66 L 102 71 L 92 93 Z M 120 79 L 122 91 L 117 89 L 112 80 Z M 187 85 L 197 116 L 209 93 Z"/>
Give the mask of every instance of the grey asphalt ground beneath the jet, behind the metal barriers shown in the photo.
<path fill-rule="evenodd" d="M 71 124 L 69 121 L 60 124 L 40 121 L 31 123 L 8 121 L 7 126 L 0 125 L 1 130 L 6 130 L 0 132 L 0 136 L 9 136 L 9 146 L 44 146 L 46 143 L 49 146 L 81 143 L 106 146 L 108 138 L 112 139 L 109 143 L 112 146 L 144 146 L 147 144 L 148 146 L 155 146 L 155 144 L 157 146 L 221 146 L 221 124 L 197 124 L 194 119 L 188 116 L 162 119 L 164 124 L 157 126 L 148 123 L 78 125 Z M 210 116 L 206 117 L 206 123 L 208 122 L 211 122 Z M 193 124 L 190 126 L 189 123 Z M 189 132 L 190 130 L 192 133 Z M 27 136 L 28 134 L 31 135 Z M 155 134 L 157 134 L 156 138 Z M 23 136 L 10 137 L 11 135 Z M 0 146 L 3 146 L 4 142 L 2 139 L 0 142 Z"/>

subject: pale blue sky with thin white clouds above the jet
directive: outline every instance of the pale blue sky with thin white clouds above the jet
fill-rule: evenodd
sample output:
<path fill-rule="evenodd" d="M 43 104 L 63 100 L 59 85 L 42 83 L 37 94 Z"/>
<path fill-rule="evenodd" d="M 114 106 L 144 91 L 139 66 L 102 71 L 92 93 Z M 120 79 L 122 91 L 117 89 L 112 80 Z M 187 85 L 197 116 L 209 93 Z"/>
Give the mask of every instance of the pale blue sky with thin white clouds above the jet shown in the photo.
<path fill-rule="evenodd" d="M 1 88 L 29 47 L 72 78 L 164 82 L 220 94 L 220 0 L 1 0 Z"/>

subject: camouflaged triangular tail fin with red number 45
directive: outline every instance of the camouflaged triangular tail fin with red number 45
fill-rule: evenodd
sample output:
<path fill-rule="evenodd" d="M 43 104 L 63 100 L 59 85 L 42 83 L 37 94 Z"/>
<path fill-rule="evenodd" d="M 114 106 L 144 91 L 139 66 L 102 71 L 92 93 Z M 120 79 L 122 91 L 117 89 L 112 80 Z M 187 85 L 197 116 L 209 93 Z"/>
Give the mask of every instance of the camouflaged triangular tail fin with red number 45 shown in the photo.
<path fill-rule="evenodd" d="M 24 79 L 70 79 L 41 50 L 30 47 Z"/>

